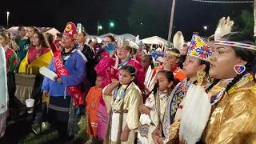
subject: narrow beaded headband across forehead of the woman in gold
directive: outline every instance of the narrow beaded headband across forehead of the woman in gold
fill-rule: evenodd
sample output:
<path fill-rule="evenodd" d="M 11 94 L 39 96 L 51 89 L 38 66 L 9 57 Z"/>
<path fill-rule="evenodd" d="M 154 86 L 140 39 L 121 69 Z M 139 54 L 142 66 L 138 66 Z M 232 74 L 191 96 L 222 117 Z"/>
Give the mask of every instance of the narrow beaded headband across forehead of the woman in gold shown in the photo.
<path fill-rule="evenodd" d="M 240 42 L 231 42 L 231 41 L 215 41 L 215 45 L 225 45 L 225 46 L 236 46 L 244 49 L 249 49 L 249 50 L 256 50 L 256 46 L 253 45 L 248 45 L 245 43 L 240 43 Z"/>

